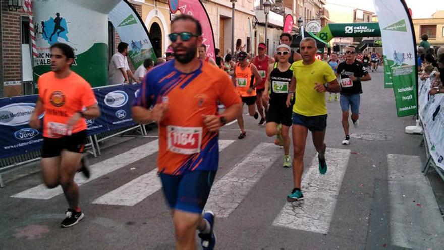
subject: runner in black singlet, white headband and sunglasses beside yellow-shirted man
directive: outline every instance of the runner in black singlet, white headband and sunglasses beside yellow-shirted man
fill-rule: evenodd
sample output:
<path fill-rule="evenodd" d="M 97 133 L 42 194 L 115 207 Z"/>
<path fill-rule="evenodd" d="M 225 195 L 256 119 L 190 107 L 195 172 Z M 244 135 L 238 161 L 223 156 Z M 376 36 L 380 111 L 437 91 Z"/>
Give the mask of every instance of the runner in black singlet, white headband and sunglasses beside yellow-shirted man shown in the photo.
<path fill-rule="evenodd" d="M 268 137 L 277 135 L 278 140 L 284 146 L 284 164 L 283 167 L 291 167 L 290 157 L 290 137 L 288 132 L 292 125 L 291 114 L 292 105 L 286 104 L 287 96 L 293 93 L 288 92 L 293 71 L 290 69 L 291 64 L 288 62 L 290 57 L 290 47 L 281 44 L 277 48 L 278 62 L 268 66 L 268 77 L 265 81 L 264 100 L 270 102 L 267 112 L 266 133 Z M 271 87 L 270 87 L 271 85 Z"/>

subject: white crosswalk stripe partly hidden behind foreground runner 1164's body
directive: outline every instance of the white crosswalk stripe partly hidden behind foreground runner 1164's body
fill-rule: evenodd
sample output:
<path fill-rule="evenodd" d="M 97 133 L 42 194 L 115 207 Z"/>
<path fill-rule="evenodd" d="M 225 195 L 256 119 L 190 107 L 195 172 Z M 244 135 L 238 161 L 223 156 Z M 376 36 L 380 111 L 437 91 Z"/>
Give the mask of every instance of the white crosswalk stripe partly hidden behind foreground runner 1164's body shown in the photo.
<path fill-rule="evenodd" d="M 223 151 L 234 140 L 219 140 L 219 152 Z M 98 197 L 92 203 L 107 205 L 134 206 L 162 188 L 157 168 L 137 177 L 125 185 Z"/>

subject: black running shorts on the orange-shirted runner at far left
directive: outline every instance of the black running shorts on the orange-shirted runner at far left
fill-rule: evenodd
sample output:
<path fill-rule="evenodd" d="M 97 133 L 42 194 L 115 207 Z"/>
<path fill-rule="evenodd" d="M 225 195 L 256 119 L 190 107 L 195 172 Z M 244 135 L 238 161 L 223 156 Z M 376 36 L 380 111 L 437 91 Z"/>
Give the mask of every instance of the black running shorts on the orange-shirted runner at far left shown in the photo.
<path fill-rule="evenodd" d="M 85 150 L 86 130 L 60 138 L 43 137 L 42 158 L 60 156 L 62 150 L 83 153 Z"/>

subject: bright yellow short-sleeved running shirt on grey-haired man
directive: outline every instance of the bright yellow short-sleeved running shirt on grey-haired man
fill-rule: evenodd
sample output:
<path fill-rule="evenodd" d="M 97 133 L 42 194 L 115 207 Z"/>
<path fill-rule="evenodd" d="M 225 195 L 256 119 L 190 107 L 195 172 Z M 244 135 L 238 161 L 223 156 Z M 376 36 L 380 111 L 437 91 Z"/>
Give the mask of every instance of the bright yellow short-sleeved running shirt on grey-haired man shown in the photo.
<path fill-rule="evenodd" d="M 293 112 L 304 116 L 320 116 L 327 114 L 325 93 L 318 93 L 316 83 L 325 84 L 336 79 L 331 67 L 320 60 L 305 65 L 302 60 L 296 61 L 290 67 L 296 78 L 296 102 Z"/>

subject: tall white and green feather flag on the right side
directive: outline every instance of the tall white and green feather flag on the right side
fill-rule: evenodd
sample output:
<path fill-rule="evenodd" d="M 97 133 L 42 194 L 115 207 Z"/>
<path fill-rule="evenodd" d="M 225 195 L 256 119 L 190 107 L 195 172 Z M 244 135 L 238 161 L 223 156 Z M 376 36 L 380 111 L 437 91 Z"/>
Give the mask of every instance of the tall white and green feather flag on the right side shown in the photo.
<path fill-rule="evenodd" d="M 396 113 L 398 117 L 414 115 L 418 109 L 417 76 L 410 17 L 402 0 L 374 0 L 374 4 L 384 44 L 384 71 L 392 78 Z"/>

